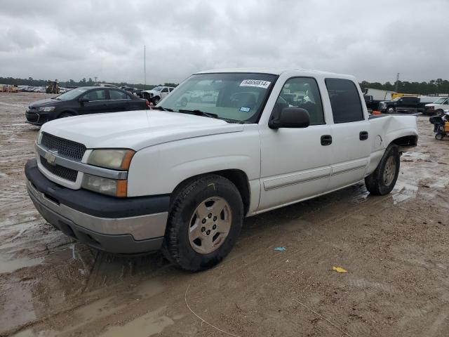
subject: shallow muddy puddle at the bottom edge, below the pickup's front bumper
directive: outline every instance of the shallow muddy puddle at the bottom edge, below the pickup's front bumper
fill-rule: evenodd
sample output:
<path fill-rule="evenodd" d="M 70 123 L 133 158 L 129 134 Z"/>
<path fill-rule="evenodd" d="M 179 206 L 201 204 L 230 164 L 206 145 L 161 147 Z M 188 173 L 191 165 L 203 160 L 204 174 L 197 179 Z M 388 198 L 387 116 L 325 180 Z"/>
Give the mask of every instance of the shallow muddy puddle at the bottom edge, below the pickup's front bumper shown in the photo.
<path fill-rule="evenodd" d="M 111 326 L 100 337 L 147 337 L 161 333 L 167 326 L 175 323 L 170 317 L 162 315 L 165 310 L 166 307 L 162 307 L 122 326 Z"/>

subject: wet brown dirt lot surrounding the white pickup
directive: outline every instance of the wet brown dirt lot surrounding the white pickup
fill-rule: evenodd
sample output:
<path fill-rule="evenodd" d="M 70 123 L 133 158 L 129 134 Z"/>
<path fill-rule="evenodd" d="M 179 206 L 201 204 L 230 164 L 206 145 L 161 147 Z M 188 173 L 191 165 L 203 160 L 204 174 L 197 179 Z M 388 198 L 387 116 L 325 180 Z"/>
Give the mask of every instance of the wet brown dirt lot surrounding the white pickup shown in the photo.
<path fill-rule="evenodd" d="M 43 97 L 0 93 L 0 336 L 449 335 L 449 140 L 428 118 L 391 194 L 359 184 L 248 218 L 223 263 L 189 274 L 159 253 L 89 249 L 39 216 L 24 120 Z"/>

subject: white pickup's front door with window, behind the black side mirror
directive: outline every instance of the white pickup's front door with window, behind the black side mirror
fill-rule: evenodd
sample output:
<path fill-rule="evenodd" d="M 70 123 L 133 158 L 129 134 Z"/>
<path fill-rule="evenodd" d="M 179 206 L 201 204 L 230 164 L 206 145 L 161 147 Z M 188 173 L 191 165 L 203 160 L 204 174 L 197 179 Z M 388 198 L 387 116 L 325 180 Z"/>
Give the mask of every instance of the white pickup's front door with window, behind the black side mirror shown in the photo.
<path fill-rule="evenodd" d="M 330 177 L 332 145 L 316 80 L 294 77 L 284 84 L 272 115 L 285 107 L 309 112 L 307 128 L 260 128 L 261 195 L 267 210 L 323 193 Z"/>

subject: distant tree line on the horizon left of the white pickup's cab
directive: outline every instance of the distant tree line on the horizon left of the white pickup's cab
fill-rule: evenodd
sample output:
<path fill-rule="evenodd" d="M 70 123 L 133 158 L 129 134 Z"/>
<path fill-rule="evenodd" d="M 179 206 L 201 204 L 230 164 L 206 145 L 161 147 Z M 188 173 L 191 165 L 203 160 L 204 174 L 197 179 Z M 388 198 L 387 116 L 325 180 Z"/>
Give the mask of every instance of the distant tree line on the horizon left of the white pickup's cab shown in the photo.
<path fill-rule="evenodd" d="M 100 81 L 99 81 L 100 82 Z M 164 83 L 164 84 L 133 84 L 126 82 L 107 82 L 109 84 L 114 84 L 115 86 L 130 86 L 132 88 L 138 89 L 152 89 L 155 86 L 177 86 L 175 83 Z M 33 79 L 32 77 L 28 77 L 27 79 L 17 79 L 14 77 L 0 77 L 0 84 L 11 84 L 15 86 L 46 86 L 46 79 Z M 83 78 L 79 81 L 74 81 L 73 79 L 69 79 L 68 81 L 59 81 L 59 85 L 63 87 L 76 87 L 76 86 L 93 86 L 95 81 L 89 77 L 88 79 Z"/>

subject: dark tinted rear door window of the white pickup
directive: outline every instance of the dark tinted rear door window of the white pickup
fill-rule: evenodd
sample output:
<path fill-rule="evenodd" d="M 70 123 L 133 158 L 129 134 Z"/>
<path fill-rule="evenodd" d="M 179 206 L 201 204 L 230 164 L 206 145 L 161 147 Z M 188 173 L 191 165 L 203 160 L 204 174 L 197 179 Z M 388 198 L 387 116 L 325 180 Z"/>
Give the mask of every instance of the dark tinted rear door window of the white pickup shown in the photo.
<path fill-rule="evenodd" d="M 326 79 L 334 123 L 363 121 L 363 109 L 356 84 L 349 79 Z"/>

